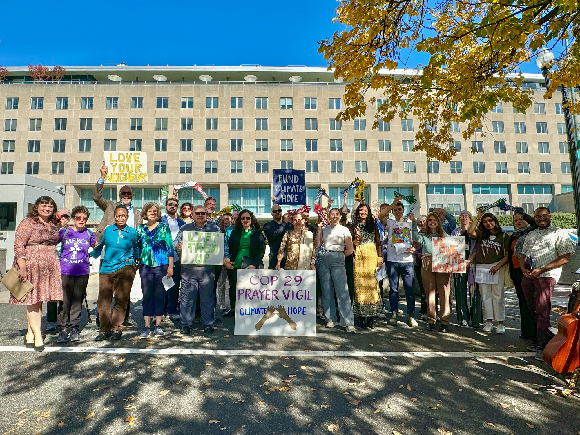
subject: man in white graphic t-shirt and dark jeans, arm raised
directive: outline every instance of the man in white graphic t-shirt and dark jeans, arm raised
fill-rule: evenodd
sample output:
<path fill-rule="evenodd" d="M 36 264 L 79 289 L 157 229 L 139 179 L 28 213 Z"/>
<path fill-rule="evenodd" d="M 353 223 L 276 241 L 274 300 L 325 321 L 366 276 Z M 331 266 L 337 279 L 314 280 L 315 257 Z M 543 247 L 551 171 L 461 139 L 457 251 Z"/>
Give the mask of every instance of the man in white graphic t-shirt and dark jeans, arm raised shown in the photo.
<path fill-rule="evenodd" d="M 389 219 L 389 213 L 391 211 L 395 219 Z M 403 220 L 404 213 L 405 206 L 399 197 L 395 198 L 393 204 L 385 207 L 379 213 L 380 223 L 385 228 L 385 247 L 387 249 L 386 269 L 391 287 L 391 293 L 389 295 L 391 318 L 389 319 L 389 324 L 393 326 L 397 325 L 397 308 L 399 302 L 398 280 L 401 277 L 403 279 L 405 295 L 407 296 L 408 324 L 410 327 L 416 328 L 418 324 L 413 317 L 415 315 L 415 293 L 413 292 L 415 272 L 413 268 L 414 257 L 412 256 L 415 248 L 412 247 L 411 222 L 405 222 Z"/>

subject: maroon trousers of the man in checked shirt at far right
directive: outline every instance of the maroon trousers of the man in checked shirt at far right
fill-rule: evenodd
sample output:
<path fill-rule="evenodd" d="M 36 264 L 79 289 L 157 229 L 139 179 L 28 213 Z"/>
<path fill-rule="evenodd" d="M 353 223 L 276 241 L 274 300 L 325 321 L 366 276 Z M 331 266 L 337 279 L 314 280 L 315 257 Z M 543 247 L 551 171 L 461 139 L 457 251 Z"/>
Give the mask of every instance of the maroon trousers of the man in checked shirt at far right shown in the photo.
<path fill-rule="evenodd" d="M 545 347 L 548 342 L 548 328 L 550 327 L 550 311 L 552 310 L 552 293 L 556 280 L 542 277 L 533 280 L 524 276 L 521 288 L 524 291 L 528 309 L 535 321 L 535 343 L 539 347 Z"/>

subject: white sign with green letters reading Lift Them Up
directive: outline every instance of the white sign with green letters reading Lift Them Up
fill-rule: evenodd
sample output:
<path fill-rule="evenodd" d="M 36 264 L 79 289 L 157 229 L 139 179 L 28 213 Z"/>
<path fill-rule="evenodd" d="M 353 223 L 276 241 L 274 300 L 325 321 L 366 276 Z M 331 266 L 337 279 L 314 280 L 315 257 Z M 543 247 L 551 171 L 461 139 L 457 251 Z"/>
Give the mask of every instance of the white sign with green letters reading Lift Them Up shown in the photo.
<path fill-rule="evenodd" d="M 223 233 L 183 231 L 182 264 L 212 266 L 223 264 Z"/>

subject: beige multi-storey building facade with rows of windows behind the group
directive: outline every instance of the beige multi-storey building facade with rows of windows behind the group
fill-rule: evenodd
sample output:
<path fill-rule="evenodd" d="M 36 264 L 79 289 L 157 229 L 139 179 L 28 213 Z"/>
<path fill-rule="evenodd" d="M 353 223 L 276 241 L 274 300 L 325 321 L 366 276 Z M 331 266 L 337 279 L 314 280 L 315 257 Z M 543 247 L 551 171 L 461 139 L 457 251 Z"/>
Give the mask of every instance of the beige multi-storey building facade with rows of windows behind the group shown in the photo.
<path fill-rule="evenodd" d="M 277 168 L 306 170 L 310 204 L 323 187 L 342 205 L 339 191 L 360 177 L 367 202 L 391 202 L 397 190 L 418 197 L 423 213 L 427 206 L 474 211 L 498 197 L 528 212 L 556 211 L 556 195 L 571 191 L 561 100 L 543 99 L 541 74 L 525 75 L 535 89 L 527 113 L 502 104 L 487 115 L 486 137 L 467 141 L 457 125 L 454 160 L 428 164 L 413 149 L 417 119 L 372 129 L 375 104 L 363 119 L 336 122 L 344 85 L 326 68 L 65 68 L 60 83 L 32 82 L 26 68 L 8 68 L 0 84 L 0 185 L 10 174 L 60 184 L 66 206 L 88 206 L 91 220 L 102 215 L 92 187 L 104 152 L 114 150 L 147 152 L 149 182 L 132 186 L 136 206 L 158 201 L 162 186 L 195 180 L 219 207 L 240 204 L 260 218 L 270 216 Z M 105 187 L 115 200 L 120 186 Z M 191 189 L 179 198 L 201 202 Z M 1 214 L 0 222 L 10 219 Z"/>

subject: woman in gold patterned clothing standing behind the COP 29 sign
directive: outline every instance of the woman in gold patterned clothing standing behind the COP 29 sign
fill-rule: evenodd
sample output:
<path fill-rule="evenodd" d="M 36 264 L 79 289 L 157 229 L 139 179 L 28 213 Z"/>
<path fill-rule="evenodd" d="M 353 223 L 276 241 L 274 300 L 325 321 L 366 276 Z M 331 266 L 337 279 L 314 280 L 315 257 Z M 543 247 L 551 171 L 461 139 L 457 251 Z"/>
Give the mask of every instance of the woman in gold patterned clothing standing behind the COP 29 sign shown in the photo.
<path fill-rule="evenodd" d="M 292 231 L 286 231 L 282 237 L 280 249 L 278 249 L 276 270 L 281 268 L 287 270 L 316 270 L 316 250 L 314 249 L 312 231 L 305 229 L 305 220 L 300 213 L 293 215 L 291 222 L 294 228 Z M 286 252 L 285 256 L 284 252 Z"/>

